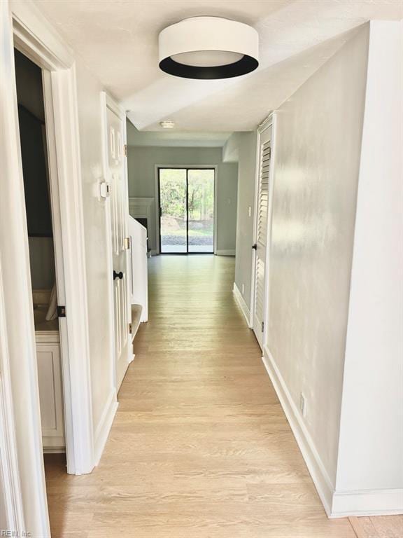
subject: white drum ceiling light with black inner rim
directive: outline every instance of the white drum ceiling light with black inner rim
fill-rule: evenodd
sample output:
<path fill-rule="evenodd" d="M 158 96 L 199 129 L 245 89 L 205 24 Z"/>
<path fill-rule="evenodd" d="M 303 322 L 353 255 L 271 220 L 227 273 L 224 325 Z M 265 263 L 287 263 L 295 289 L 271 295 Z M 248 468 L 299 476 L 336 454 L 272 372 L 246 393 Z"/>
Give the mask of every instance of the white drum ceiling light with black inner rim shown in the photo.
<path fill-rule="evenodd" d="M 160 69 L 183 78 L 231 78 L 259 65 L 259 36 L 243 22 L 192 17 L 162 30 Z"/>

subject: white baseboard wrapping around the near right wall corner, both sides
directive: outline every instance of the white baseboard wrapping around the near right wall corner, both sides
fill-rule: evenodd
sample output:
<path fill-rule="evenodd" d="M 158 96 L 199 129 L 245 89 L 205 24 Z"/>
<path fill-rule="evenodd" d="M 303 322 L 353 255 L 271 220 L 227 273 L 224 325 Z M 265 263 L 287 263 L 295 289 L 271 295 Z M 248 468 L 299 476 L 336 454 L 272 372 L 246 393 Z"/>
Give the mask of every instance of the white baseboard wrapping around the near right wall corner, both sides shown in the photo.
<path fill-rule="evenodd" d="M 306 429 L 299 409 L 291 398 L 283 377 L 267 346 L 264 346 L 263 364 L 276 390 L 292 433 L 322 504 L 329 518 L 348 516 L 388 516 L 403 513 L 403 490 L 335 491 L 330 476 L 320 460 L 313 440 Z"/>

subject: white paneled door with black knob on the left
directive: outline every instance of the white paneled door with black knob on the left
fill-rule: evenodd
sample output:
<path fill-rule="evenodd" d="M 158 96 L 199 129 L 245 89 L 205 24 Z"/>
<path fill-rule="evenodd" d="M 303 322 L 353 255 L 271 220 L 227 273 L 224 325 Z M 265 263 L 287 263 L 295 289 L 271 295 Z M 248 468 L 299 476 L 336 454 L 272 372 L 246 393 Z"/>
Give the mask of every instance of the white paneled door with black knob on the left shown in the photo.
<path fill-rule="evenodd" d="M 125 174 L 125 137 L 122 118 L 106 107 L 108 132 L 108 181 L 111 185 L 111 241 L 116 389 L 129 365 L 129 289 L 127 273 L 127 217 L 129 201 Z"/>

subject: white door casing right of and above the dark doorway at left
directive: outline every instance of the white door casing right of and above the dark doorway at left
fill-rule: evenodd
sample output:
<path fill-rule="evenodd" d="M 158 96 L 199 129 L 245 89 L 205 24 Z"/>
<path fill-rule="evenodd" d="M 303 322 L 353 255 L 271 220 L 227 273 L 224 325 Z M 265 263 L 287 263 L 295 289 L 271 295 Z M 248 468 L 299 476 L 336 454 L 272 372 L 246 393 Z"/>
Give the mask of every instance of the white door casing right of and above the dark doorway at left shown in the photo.
<path fill-rule="evenodd" d="M 43 69 L 57 294 L 66 306 L 59 333 L 67 472 L 84 474 L 94 468 L 94 433 L 76 67 L 71 49 L 34 4 L 13 0 L 10 11 L 13 46 Z M 15 142 L 20 153 L 17 125 Z M 15 240 L 27 244 L 26 230 Z M 29 274 L 29 260 L 22 264 Z M 31 295 L 26 308 L 32 315 Z"/>

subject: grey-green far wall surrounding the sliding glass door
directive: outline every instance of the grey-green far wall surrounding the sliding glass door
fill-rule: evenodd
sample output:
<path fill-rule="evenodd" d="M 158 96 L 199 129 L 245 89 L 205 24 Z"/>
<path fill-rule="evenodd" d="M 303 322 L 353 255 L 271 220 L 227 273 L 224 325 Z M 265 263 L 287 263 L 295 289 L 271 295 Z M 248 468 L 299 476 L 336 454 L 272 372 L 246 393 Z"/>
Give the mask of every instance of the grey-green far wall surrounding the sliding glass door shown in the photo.
<path fill-rule="evenodd" d="M 217 250 L 232 251 L 236 246 L 236 163 L 222 163 L 221 148 L 178 148 L 129 146 L 127 166 L 129 197 L 154 198 L 155 165 L 217 165 Z M 150 248 L 157 246 L 155 204 L 149 230 Z"/>

